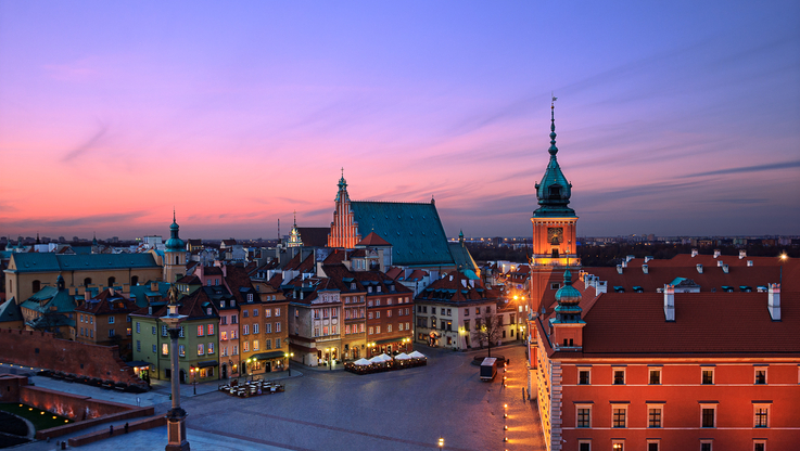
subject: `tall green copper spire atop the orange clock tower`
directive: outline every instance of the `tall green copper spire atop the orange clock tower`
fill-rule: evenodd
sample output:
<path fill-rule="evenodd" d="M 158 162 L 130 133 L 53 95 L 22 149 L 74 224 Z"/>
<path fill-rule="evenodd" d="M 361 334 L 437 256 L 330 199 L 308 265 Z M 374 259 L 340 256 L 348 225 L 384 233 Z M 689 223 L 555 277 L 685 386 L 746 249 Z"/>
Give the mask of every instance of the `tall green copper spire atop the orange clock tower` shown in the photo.
<path fill-rule="evenodd" d="M 574 217 L 575 210 L 569 207 L 570 196 L 572 196 L 572 184 L 561 172 L 558 165 L 556 154 L 556 114 L 550 106 L 550 163 L 547 165 L 542 181 L 536 183 L 536 198 L 538 199 L 538 209 L 533 212 L 534 217 Z"/>

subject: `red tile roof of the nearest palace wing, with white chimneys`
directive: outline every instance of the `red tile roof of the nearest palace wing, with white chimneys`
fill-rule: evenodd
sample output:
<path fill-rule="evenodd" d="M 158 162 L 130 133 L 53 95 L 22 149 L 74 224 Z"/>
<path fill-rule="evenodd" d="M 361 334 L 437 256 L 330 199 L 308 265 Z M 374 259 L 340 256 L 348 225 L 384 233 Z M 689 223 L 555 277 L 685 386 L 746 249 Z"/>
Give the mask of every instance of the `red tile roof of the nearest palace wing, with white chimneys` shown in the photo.
<path fill-rule="evenodd" d="M 663 302 L 658 293 L 582 302 L 583 357 L 800 355 L 800 294 L 782 294 L 782 321 L 772 321 L 766 293 L 678 293 L 674 322 L 665 321 Z M 537 323 L 542 333 L 546 323 Z"/>

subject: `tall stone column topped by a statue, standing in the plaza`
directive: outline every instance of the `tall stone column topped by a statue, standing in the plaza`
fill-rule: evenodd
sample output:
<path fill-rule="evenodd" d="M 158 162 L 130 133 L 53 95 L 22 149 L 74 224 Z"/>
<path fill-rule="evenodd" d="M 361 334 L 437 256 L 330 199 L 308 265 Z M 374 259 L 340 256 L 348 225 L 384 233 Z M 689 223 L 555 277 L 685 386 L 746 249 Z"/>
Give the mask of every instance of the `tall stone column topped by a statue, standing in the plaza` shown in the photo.
<path fill-rule="evenodd" d="M 186 439 L 187 413 L 180 408 L 180 385 L 178 372 L 178 337 L 180 337 L 180 323 L 187 319 L 186 314 L 178 313 L 178 289 L 173 285 L 169 288 L 169 306 L 167 314 L 161 320 L 167 325 L 170 339 L 172 358 L 172 388 L 173 408 L 167 412 L 167 446 L 166 451 L 189 451 L 189 441 Z"/>

